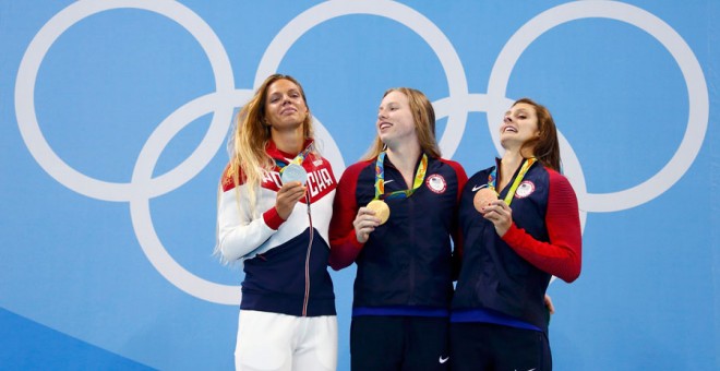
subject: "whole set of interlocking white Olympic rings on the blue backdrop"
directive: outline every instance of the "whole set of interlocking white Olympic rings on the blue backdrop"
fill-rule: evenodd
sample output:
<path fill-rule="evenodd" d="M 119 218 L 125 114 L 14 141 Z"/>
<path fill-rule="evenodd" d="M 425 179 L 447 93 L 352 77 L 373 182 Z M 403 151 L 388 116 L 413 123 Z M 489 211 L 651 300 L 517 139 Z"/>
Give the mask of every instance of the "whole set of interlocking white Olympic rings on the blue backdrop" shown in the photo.
<path fill-rule="evenodd" d="M 34 106 L 34 88 L 39 65 L 57 38 L 76 22 L 101 11 L 137 8 L 163 14 L 183 26 L 195 37 L 207 55 L 215 74 L 216 93 L 199 97 L 168 116 L 143 146 L 129 183 L 111 183 L 80 173 L 62 161 L 43 136 Z M 587 212 L 611 212 L 646 203 L 667 191 L 685 173 L 695 160 L 707 130 L 709 99 L 707 85 L 695 55 L 677 33 L 655 15 L 628 4 L 609 1 L 577 1 L 552 8 L 530 20 L 511 37 L 491 71 L 488 94 L 469 94 L 465 72 L 455 49 L 445 35 L 430 20 L 413 9 L 387 1 L 367 2 L 328 1 L 315 5 L 290 21 L 266 49 L 254 86 L 274 73 L 288 49 L 312 27 L 333 17 L 348 14 L 371 14 L 397 21 L 423 37 L 448 77 L 449 96 L 433 103 L 437 118 L 448 117 L 440 145 L 447 157 L 457 149 L 465 130 L 467 113 L 487 111 L 491 135 L 496 146 L 497 127 L 502 112 L 513 103 L 505 89 L 515 62 L 523 51 L 540 35 L 560 24 L 584 17 L 608 17 L 636 25 L 655 36 L 672 53 L 687 82 L 691 109 L 685 136 L 670 163 L 651 179 L 629 190 L 589 194 L 579 159 L 567 140 L 560 133 L 565 170 L 578 193 L 583 210 L 583 226 Z M 658 34 L 660 36 L 658 36 Z M 227 133 L 232 110 L 247 101 L 250 89 L 232 86 L 232 70 L 225 49 L 213 29 L 197 14 L 176 1 L 158 0 L 93 0 L 77 1 L 53 16 L 28 45 L 16 77 L 15 110 L 21 135 L 40 167 L 69 189 L 100 200 L 130 202 L 133 228 L 143 252 L 156 270 L 181 290 L 217 303 L 238 304 L 238 286 L 219 285 L 200 278 L 180 266 L 159 241 L 153 227 L 149 199 L 166 194 L 188 182 L 214 157 Z M 194 119 L 214 112 L 211 127 L 193 154 L 175 169 L 153 178 L 153 170 L 163 149 L 170 140 Z M 325 128 L 317 121 L 317 136 L 331 144 L 325 151 L 336 171 L 345 169 L 339 148 Z M 499 152 L 501 151 L 497 147 Z"/>

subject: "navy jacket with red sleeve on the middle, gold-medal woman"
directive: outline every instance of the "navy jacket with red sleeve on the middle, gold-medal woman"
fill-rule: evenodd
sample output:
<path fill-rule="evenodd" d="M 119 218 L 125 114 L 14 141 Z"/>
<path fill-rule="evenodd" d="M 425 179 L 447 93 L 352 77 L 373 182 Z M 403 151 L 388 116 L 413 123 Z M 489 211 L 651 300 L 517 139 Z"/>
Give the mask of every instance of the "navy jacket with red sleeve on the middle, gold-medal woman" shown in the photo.
<path fill-rule="evenodd" d="M 429 158 L 422 185 L 408 199 L 387 200 L 389 219 L 362 244 L 352 220 L 374 198 L 375 160 L 345 170 L 331 223 L 331 266 L 340 270 L 353 261 L 357 264 L 353 308 L 447 310 L 453 295 L 451 236 L 456 230 L 457 201 L 466 180 L 459 164 Z M 385 193 L 411 185 L 386 157 Z"/>

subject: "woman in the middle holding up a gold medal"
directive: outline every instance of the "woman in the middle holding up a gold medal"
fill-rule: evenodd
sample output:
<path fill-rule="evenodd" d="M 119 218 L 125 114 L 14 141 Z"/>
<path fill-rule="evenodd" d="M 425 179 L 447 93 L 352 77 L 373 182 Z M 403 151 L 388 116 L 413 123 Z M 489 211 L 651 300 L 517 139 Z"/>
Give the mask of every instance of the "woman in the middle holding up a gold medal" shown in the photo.
<path fill-rule="evenodd" d="M 448 306 L 457 202 L 467 180 L 440 157 L 421 92 L 385 92 L 367 157 L 338 183 L 331 266 L 357 264 L 352 370 L 448 368 Z"/>

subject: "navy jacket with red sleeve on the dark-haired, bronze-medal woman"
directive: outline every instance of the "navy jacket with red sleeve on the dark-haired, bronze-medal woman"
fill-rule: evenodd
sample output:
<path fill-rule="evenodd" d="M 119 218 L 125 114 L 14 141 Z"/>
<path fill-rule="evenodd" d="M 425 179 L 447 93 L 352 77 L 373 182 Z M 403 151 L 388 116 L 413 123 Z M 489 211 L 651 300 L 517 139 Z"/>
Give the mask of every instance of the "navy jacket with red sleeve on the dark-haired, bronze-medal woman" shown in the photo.
<path fill-rule="evenodd" d="M 488 309 L 547 331 L 544 294 L 550 278 L 556 275 L 573 282 L 580 273 L 575 192 L 565 177 L 533 164 L 509 205 L 513 225 L 501 238 L 472 203 L 475 193 L 487 187 L 492 170 L 472 176 L 463 191 L 459 224 L 464 251 L 453 315 Z M 516 176 L 517 171 L 500 192 L 501 200 Z"/>

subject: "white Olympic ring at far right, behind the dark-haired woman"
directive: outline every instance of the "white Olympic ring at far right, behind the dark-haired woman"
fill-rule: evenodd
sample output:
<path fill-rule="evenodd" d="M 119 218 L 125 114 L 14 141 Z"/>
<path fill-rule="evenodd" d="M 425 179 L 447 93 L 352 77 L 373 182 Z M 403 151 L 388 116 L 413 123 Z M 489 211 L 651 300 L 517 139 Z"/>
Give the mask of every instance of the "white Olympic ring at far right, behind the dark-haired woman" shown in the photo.
<path fill-rule="evenodd" d="M 619 191 L 605 194 L 587 193 L 585 178 L 580 176 L 579 160 L 575 156 L 572 161 L 565 160 L 565 170 L 571 175 L 573 187 L 577 187 L 580 208 L 587 212 L 615 212 L 641 205 L 658 195 L 665 192 L 680 178 L 695 160 L 707 131 L 710 104 L 708 97 L 707 84 L 700 63 L 695 58 L 693 50 L 685 40 L 667 23 L 652 15 L 651 13 L 615 1 L 576 1 L 567 4 L 549 9 L 537 15 L 515 35 L 511 37 L 503 50 L 497 56 L 495 64 L 488 83 L 488 94 L 492 99 L 504 99 L 505 88 L 509 81 L 509 74 L 515 62 L 525 49 L 545 31 L 560 24 L 585 19 L 585 17 L 607 17 L 622 21 L 635 25 L 656 39 L 658 39 L 670 51 L 675 59 L 685 77 L 687 93 L 689 98 L 689 115 L 687 119 L 687 129 L 677 152 L 672 159 L 652 178 L 625 191 Z M 508 105 L 497 105 L 495 101 L 490 105 L 488 111 L 488 121 L 490 123 L 490 134 L 495 143 L 497 141 L 497 129 L 502 120 L 502 115 Z M 561 147 L 563 158 L 571 154 L 569 144 L 564 141 Z M 572 152 L 574 155 L 574 152 Z M 583 179 L 580 182 L 579 179 Z"/>

